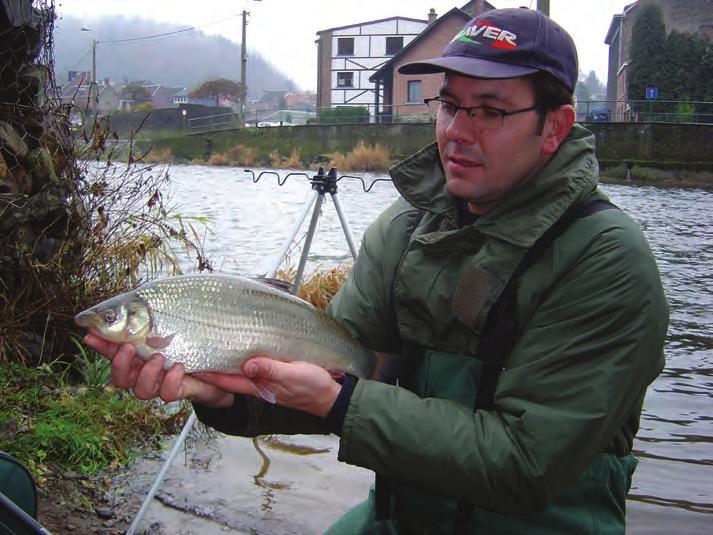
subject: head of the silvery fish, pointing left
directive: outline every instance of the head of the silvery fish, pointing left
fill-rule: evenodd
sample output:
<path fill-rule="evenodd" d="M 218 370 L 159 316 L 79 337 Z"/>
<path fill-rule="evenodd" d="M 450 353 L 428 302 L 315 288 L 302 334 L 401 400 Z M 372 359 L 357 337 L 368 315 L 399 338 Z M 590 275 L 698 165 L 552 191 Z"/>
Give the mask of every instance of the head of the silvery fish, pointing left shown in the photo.
<path fill-rule="evenodd" d="M 74 322 L 117 344 L 145 340 L 152 325 L 148 303 L 131 292 L 80 312 Z"/>

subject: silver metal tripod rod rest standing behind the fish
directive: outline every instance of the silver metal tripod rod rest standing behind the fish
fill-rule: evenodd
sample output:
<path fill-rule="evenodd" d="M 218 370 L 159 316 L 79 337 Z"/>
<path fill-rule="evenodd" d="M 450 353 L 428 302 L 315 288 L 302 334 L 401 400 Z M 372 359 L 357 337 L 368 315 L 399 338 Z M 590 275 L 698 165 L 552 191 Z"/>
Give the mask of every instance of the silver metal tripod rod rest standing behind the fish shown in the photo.
<path fill-rule="evenodd" d="M 325 195 L 327 193 L 329 193 L 332 197 L 332 201 L 334 202 L 334 209 L 337 211 L 339 222 L 341 223 L 342 230 L 344 231 L 344 237 L 347 240 L 347 244 L 349 245 L 349 250 L 352 253 L 352 257 L 354 258 L 354 260 L 356 260 L 357 249 L 354 246 L 354 238 L 352 236 L 351 230 L 349 229 L 347 219 L 346 217 L 344 217 L 344 212 L 342 211 L 342 205 L 339 202 L 339 197 L 337 197 L 338 180 L 339 179 L 337 178 L 337 169 L 335 167 L 332 167 L 329 170 L 329 173 L 327 174 L 324 173 L 324 168 L 320 167 L 317 171 L 317 174 L 310 179 L 310 183 L 312 184 L 312 191 L 310 193 L 310 196 L 307 198 L 307 201 L 305 202 L 304 207 L 302 208 L 302 212 L 300 213 L 299 217 L 297 218 L 297 221 L 295 222 L 295 226 L 293 227 L 292 232 L 285 240 L 282 250 L 278 255 L 277 259 L 275 260 L 273 268 L 270 270 L 270 276 L 275 277 L 275 275 L 277 274 L 277 270 L 280 268 L 280 264 L 282 264 L 282 261 L 287 255 L 287 251 L 289 251 L 290 246 L 292 245 L 293 241 L 295 240 L 295 237 L 297 236 L 297 233 L 300 231 L 300 228 L 302 228 L 302 224 L 304 223 L 304 220 L 306 219 L 310 208 L 312 208 L 312 206 L 314 205 L 314 209 L 312 210 L 312 218 L 310 219 L 309 228 L 307 230 L 307 236 L 305 237 L 305 244 L 304 247 L 302 247 L 300 263 L 297 266 L 295 282 L 291 290 L 291 293 L 293 295 L 297 295 L 297 292 L 300 289 L 302 275 L 304 274 L 304 268 L 307 264 L 307 256 L 309 255 L 309 250 L 312 246 L 312 240 L 314 239 L 314 234 L 317 229 L 317 222 L 319 220 L 319 216 L 322 213 L 322 204 L 325 201 Z M 176 458 L 176 455 L 178 455 L 178 450 L 181 444 L 183 444 L 183 442 L 186 440 L 188 433 L 190 432 L 191 428 L 195 423 L 196 414 L 191 410 L 191 414 L 188 417 L 186 423 L 184 424 L 183 429 L 181 429 L 181 433 L 178 435 L 178 437 L 173 443 L 171 453 L 169 453 L 168 457 L 164 461 L 161 470 L 159 471 L 158 475 L 156 476 L 156 479 L 153 482 L 153 485 L 151 486 L 151 489 L 149 489 L 146 498 L 144 498 L 144 501 L 141 503 L 141 507 L 139 508 L 138 513 L 136 513 L 136 516 L 134 517 L 131 526 L 129 526 L 129 529 L 126 531 L 126 535 L 133 535 L 135 533 L 136 528 L 138 527 L 139 523 L 141 522 L 141 519 L 143 518 L 144 514 L 146 513 L 146 510 L 149 507 L 149 504 L 151 503 L 151 500 L 158 491 L 158 488 L 161 485 L 161 482 L 163 481 L 166 472 L 173 463 L 173 460 Z"/>

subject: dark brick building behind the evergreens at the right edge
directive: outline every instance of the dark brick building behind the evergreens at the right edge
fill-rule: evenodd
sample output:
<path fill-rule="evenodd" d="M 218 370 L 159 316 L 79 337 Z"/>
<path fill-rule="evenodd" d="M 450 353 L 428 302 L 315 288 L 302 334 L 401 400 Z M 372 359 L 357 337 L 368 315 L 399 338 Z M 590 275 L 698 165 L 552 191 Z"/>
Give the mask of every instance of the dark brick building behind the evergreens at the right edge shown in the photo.
<path fill-rule="evenodd" d="M 626 77 L 630 59 L 631 30 L 641 6 L 656 4 L 663 13 L 666 33 L 671 30 L 700 33 L 713 39 L 713 9 L 711 0 L 637 0 L 612 17 L 604 43 L 609 45 L 607 100 L 613 105 L 615 117 L 626 117 L 627 101 L 642 100 L 643 95 L 629 95 Z"/>

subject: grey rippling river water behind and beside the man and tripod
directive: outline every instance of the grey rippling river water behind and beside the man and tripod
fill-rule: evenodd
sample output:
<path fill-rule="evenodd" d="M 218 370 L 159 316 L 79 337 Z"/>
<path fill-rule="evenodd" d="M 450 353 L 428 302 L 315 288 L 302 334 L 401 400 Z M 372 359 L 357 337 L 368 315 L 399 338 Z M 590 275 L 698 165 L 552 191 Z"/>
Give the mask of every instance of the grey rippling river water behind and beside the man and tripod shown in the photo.
<path fill-rule="evenodd" d="M 237 168 L 176 165 L 170 173 L 179 212 L 211 218 L 205 249 L 214 267 L 242 275 L 270 272 L 310 194 L 305 176 L 278 185 L 274 175 L 255 183 Z M 289 171 L 278 173 L 284 178 Z M 386 178 L 360 176 L 367 185 Z M 671 305 L 666 369 L 649 389 L 635 442 L 640 464 L 628 501 L 629 533 L 713 533 L 713 192 L 602 188 L 643 228 Z M 357 246 L 366 226 L 396 196 L 386 181 L 374 183 L 369 193 L 357 180 L 339 182 Z M 292 265 L 299 254 L 299 248 L 291 251 Z M 327 196 L 307 272 L 348 260 Z M 152 506 L 142 525 L 163 526 L 165 533 L 316 533 L 365 497 L 371 473 L 336 462 L 334 437 L 280 440 L 257 448 L 235 437 L 211 441 L 212 461 L 172 467 L 159 493 L 163 508 Z"/>

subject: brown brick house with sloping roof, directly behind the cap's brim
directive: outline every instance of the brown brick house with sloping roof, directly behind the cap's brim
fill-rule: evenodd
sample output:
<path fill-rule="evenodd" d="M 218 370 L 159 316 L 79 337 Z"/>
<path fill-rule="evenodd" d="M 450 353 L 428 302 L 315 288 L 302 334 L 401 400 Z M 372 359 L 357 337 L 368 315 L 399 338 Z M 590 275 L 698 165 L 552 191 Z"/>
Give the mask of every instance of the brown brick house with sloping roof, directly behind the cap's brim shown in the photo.
<path fill-rule="evenodd" d="M 428 113 L 423 98 L 438 94 L 443 85 L 443 74 L 405 75 L 400 74 L 398 68 L 412 61 L 440 56 L 453 36 L 472 17 L 491 9 L 495 9 L 494 6 L 481 0 L 453 8 L 438 18 L 431 10 L 427 28 L 370 77 L 376 88 L 380 120 L 392 120 L 394 116 L 402 120 L 404 117 L 423 119 Z"/>

